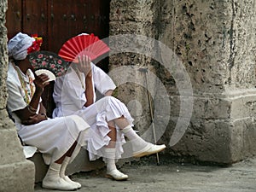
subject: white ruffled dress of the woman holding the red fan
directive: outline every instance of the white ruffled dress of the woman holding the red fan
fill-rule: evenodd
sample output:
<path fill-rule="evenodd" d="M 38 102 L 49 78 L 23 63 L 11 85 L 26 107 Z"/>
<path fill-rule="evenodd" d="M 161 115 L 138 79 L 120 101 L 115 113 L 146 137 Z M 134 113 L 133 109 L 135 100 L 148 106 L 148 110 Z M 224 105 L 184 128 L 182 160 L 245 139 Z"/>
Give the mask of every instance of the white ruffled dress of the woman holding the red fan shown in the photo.
<path fill-rule="evenodd" d="M 91 70 L 94 90 L 98 90 L 104 95 L 108 90 L 116 88 L 113 80 L 101 68 L 91 63 Z M 87 101 L 84 86 L 84 73 L 78 75 L 73 67 L 69 68 L 65 76 L 56 79 L 53 93 L 56 108 L 53 117 L 70 114 L 78 114 L 82 117 L 91 128 L 92 135 L 87 145 L 89 157 L 90 160 L 96 160 L 99 157 L 104 157 L 102 148 L 110 141 L 108 121 L 124 116 L 132 125 L 133 119 L 125 104 L 113 96 L 104 96 L 96 101 L 96 92 L 94 92 L 94 103 L 87 108 L 84 107 L 84 103 Z M 117 127 L 116 159 L 120 159 L 121 154 L 124 153 L 122 147 L 124 143 L 125 137 Z"/>

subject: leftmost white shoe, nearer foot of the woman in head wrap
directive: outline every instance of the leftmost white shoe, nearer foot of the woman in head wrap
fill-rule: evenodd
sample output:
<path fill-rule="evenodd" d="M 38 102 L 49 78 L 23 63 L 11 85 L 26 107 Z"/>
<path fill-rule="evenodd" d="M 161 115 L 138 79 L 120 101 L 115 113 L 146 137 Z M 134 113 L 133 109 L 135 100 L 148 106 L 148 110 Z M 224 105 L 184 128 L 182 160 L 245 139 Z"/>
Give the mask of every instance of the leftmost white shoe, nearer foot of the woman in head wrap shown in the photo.
<path fill-rule="evenodd" d="M 61 177 L 44 177 L 42 187 L 45 189 L 76 190 L 76 185 L 67 183 Z"/>

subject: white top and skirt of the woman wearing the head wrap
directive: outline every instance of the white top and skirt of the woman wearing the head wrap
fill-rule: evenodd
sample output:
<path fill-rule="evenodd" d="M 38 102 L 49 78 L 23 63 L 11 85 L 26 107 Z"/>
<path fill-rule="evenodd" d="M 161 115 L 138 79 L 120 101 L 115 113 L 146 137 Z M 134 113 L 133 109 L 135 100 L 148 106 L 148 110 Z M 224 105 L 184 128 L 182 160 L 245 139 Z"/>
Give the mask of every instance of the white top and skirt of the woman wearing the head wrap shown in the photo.
<path fill-rule="evenodd" d="M 20 79 L 24 84 L 20 83 Z M 35 88 L 32 79 L 34 79 L 34 76 L 30 69 L 27 70 L 25 75 L 19 67 L 15 67 L 9 62 L 7 109 L 15 120 L 16 129 L 23 143 L 37 147 L 43 154 L 45 164 L 49 165 L 55 160 L 59 160 L 75 141 L 79 143 L 75 150 L 78 151 L 81 146 L 85 146 L 90 126 L 78 115 L 47 119 L 35 125 L 22 125 L 19 117 L 13 112 L 26 108 L 26 98 L 29 101 L 31 100 L 31 91 Z M 28 94 L 26 94 L 26 91 Z M 74 157 L 72 157 L 72 160 Z"/>

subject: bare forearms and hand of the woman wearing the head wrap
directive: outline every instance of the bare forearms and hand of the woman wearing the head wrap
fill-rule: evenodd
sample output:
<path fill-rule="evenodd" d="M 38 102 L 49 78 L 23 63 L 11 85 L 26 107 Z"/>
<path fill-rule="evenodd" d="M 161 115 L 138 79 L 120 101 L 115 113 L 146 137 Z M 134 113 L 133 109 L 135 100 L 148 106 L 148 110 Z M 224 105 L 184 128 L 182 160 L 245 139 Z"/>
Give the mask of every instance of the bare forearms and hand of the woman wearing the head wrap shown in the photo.
<path fill-rule="evenodd" d="M 32 96 L 31 102 L 29 103 L 31 108 L 38 108 L 38 103 L 40 101 L 40 96 L 42 96 L 42 93 L 44 92 L 44 87 L 49 84 L 49 82 L 46 82 L 47 80 L 49 80 L 49 77 L 46 74 L 36 76 L 36 79 L 34 80 L 36 91 Z M 45 108 L 42 108 L 42 110 L 45 112 Z M 14 113 L 17 114 L 23 125 L 33 125 L 47 119 L 44 114 L 36 114 L 36 112 L 33 110 L 29 110 L 28 107 L 17 110 Z"/>

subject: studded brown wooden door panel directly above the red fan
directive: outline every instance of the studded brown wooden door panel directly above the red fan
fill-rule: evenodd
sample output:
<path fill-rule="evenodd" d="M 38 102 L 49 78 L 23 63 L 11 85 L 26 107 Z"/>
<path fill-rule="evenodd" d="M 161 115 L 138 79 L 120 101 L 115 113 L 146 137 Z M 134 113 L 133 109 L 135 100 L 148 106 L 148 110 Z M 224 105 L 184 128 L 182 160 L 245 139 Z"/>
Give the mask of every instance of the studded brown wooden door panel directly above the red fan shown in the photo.
<path fill-rule="evenodd" d="M 67 39 L 81 32 L 95 33 L 100 38 L 108 37 L 108 20 L 100 20 L 100 6 L 108 1 L 49 1 L 49 49 L 57 52 Z M 67 6 L 68 4 L 68 6 Z M 108 6 L 107 6 L 108 7 Z M 106 17 L 106 15 L 102 15 Z"/>

